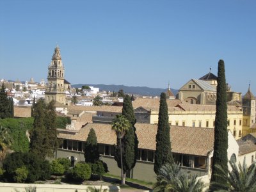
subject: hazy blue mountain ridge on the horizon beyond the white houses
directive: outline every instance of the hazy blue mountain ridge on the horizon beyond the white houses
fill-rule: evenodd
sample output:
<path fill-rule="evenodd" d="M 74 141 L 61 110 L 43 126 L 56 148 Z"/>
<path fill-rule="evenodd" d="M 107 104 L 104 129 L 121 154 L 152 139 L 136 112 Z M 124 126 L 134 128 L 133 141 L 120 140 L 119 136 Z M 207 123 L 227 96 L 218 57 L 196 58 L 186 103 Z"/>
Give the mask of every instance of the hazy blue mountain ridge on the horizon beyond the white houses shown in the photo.
<path fill-rule="evenodd" d="M 74 88 L 81 88 L 84 84 L 72 84 Z M 147 95 L 147 96 L 159 96 L 162 92 L 166 92 L 167 89 L 161 88 L 149 88 L 147 86 L 125 86 L 125 85 L 115 85 L 115 84 L 86 84 L 88 86 L 94 86 L 100 88 L 100 91 L 105 90 L 109 92 L 118 92 L 120 89 L 124 90 L 125 93 L 132 93 L 136 95 Z M 173 90 L 174 95 L 178 90 Z"/>

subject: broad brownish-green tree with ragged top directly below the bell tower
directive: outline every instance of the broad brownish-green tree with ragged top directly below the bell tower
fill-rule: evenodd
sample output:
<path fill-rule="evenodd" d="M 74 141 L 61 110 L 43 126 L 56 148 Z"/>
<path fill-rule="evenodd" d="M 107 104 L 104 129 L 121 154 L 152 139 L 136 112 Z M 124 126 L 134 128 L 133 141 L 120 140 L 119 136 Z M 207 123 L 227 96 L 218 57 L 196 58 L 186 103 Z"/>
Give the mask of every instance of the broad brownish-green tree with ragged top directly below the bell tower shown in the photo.
<path fill-rule="evenodd" d="M 46 156 L 52 157 L 53 152 L 59 145 L 54 100 L 46 105 L 43 99 L 39 99 L 35 105 L 33 115 L 35 120 L 30 132 L 30 151 L 43 159 Z"/>

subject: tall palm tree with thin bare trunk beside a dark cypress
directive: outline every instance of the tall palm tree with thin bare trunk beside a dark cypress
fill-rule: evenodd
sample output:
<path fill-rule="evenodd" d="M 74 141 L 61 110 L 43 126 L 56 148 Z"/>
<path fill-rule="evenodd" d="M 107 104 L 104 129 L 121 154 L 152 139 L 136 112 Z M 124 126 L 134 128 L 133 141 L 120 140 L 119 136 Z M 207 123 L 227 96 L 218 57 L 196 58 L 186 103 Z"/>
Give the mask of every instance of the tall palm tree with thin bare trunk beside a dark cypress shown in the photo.
<path fill-rule="evenodd" d="M 124 115 L 116 115 L 112 122 L 112 130 L 116 132 L 117 138 L 120 140 L 120 160 L 121 160 L 121 184 L 125 184 L 123 171 L 123 157 L 122 157 L 122 138 L 125 132 L 131 127 L 131 123 Z"/>

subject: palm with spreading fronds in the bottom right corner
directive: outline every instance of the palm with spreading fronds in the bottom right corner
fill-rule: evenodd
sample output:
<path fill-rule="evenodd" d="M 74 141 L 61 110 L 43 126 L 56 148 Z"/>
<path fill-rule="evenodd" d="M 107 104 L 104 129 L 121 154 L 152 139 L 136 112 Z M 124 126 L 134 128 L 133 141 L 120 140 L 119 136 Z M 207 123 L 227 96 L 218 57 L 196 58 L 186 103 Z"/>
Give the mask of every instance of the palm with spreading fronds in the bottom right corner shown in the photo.
<path fill-rule="evenodd" d="M 256 191 L 256 163 L 247 168 L 245 157 L 243 164 L 239 162 L 238 166 L 235 161 L 228 161 L 232 170 L 224 170 L 221 166 L 216 165 L 216 168 L 220 170 L 221 175 L 218 175 L 221 179 L 228 181 L 227 185 L 220 184 L 218 182 L 213 183 L 213 189 L 216 191 L 236 191 L 236 192 L 253 192 Z M 228 173 L 222 174 L 222 173 Z M 228 190 L 227 189 L 228 186 Z"/>

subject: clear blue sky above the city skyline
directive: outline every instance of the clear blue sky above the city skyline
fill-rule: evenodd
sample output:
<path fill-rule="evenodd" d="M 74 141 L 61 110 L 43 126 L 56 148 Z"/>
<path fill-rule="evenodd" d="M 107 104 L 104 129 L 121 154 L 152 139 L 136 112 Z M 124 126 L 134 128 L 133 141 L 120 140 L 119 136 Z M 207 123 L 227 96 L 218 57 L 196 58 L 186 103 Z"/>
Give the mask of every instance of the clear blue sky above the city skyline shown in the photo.
<path fill-rule="evenodd" d="M 217 74 L 256 95 L 256 1 L 0 1 L 0 79 L 47 79 L 60 45 L 71 83 L 179 89 Z"/>

